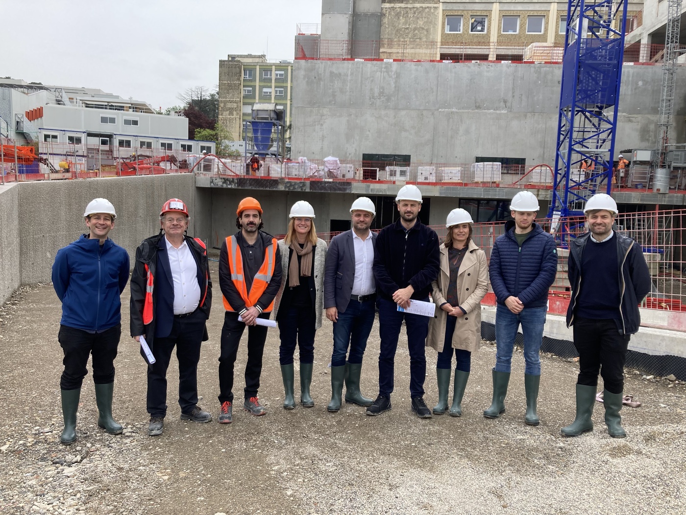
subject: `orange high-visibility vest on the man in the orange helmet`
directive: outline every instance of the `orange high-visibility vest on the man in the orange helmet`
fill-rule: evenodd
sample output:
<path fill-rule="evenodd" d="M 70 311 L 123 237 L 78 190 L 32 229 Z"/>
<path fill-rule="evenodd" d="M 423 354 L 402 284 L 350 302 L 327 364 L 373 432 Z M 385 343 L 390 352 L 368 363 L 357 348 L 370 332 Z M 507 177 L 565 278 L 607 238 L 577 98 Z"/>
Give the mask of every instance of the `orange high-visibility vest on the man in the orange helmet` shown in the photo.
<path fill-rule="evenodd" d="M 250 293 L 246 288 L 245 276 L 243 275 L 243 256 L 241 255 L 241 248 L 239 247 L 236 238 L 233 236 L 228 236 L 226 238 L 226 254 L 228 258 L 228 269 L 231 272 L 231 280 L 233 285 L 241 294 L 241 299 L 246 303 L 246 307 L 250 308 L 255 306 L 259 298 L 267 289 L 268 284 L 272 281 L 272 275 L 274 275 L 274 266 L 276 265 L 276 248 L 278 243 L 276 238 L 272 238 L 272 244 L 267 247 L 264 251 L 264 261 L 262 266 L 260 266 L 259 271 L 255 274 L 252 279 L 252 284 L 250 285 Z M 224 299 L 224 308 L 226 311 L 236 310 L 228 304 L 226 297 L 222 295 Z M 262 310 L 263 313 L 270 312 L 274 308 L 274 300 L 272 304 Z"/>

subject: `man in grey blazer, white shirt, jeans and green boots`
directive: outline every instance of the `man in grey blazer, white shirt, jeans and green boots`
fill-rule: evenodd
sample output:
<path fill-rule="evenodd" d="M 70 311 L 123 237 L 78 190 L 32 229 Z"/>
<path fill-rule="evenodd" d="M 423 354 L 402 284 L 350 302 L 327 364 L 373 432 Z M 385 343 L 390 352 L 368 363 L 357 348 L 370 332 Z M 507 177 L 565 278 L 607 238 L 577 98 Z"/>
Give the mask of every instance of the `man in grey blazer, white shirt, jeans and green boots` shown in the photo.
<path fill-rule="evenodd" d="M 353 202 L 350 212 L 353 229 L 331 240 L 324 271 L 324 308 L 333 322 L 331 402 L 327 406 L 331 412 L 340 410 L 344 382 L 346 402 L 365 407 L 372 404 L 372 399 L 359 391 L 359 376 L 377 299 L 372 271 L 377 234 L 369 230 L 376 209 L 362 196 Z"/>

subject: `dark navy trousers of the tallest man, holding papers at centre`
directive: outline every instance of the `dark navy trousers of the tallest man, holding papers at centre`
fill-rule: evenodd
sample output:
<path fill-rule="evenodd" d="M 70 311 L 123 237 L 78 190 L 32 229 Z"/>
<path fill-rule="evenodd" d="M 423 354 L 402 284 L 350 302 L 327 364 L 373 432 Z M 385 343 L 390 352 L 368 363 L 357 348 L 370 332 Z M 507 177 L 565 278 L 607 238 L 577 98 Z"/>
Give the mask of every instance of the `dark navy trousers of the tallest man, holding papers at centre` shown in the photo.
<path fill-rule="evenodd" d="M 423 300 L 428 301 L 429 298 Z M 424 380 L 427 374 L 424 345 L 429 334 L 429 317 L 403 313 L 397 308 L 398 305 L 394 301 L 379 299 L 379 395 L 390 397 L 393 391 L 395 352 L 404 319 L 407 349 L 410 351 L 410 395 L 421 397 L 424 395 Z"/>

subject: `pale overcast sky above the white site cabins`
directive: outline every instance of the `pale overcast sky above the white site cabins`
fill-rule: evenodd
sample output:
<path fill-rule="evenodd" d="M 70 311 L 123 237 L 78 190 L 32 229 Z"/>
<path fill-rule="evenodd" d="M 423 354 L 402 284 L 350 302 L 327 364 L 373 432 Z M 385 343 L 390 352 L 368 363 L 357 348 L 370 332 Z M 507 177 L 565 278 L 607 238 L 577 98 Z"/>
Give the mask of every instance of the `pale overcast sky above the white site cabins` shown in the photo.
<path fill-rule="evenodd" d="M 321 0 L 0 0 L 0 77 L 99 88 L 154 108 L 213 89 L 227 54 L 292 59 Z M 10 22 L 11 23 L 8 23 Z"/>

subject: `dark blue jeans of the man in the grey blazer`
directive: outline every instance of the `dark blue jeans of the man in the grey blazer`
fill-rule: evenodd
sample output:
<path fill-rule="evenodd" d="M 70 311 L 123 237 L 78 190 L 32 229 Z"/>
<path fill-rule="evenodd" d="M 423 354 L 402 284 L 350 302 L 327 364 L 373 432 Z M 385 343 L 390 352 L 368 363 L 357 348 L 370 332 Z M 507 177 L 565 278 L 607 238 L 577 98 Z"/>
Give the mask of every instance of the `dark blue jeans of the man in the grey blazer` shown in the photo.
<path fill-rule="evenodd" d="M 348 363 L 362 363 L 367 339 L 372 332 L 376 310 L 374 301 L 358 302 L 351 299 L 345 312 L 338 312 L 338 321 L 333 323 L 333 354 L 331 366 L 345 365 L 345 356 L 350 345 Z"/>

